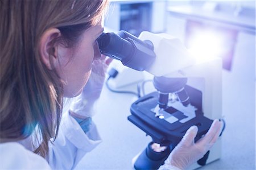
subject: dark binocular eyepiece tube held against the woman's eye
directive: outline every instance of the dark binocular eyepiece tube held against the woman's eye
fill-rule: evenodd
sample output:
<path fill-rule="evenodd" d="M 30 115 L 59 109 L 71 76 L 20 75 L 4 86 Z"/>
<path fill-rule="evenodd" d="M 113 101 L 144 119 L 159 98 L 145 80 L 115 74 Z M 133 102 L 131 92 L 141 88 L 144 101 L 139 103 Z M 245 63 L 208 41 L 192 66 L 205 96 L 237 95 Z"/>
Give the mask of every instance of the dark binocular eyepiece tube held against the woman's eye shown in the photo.
<path fill-rule="evenodd" d="M 120 60 L 123 65 L 137 71 L 144 71 L 155 60 L 152 43 L 149 40 L 143 42 L 126 31 L 102 34 L 97 42 L 103 55 Z"/>

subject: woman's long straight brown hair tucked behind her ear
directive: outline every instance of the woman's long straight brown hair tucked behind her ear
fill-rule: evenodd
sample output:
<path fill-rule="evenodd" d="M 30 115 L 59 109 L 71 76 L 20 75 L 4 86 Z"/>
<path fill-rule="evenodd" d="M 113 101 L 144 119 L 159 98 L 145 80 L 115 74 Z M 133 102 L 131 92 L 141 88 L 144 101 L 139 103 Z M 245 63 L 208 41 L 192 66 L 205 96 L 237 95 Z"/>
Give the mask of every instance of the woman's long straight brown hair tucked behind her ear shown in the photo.
<path fill-rule="evenodd" d="M 39 40 L 49 28 L 74 47 L 83 31 L 98 23 L 105 0 L 0 1 L 0 140 L 17 141 L 35 126 L 43 142 L 35 150 L 47 157 L 63 108 L 63 84 L 39 55 Z"/>

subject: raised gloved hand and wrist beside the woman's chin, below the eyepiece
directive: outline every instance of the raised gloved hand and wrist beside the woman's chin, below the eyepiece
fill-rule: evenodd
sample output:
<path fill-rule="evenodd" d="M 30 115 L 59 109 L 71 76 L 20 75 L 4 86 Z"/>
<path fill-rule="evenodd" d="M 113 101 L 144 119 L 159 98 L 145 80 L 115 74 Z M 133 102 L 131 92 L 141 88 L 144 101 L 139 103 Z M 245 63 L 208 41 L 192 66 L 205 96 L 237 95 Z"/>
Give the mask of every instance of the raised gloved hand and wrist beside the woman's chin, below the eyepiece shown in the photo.
<path fill-rule="evenodd" d="M 100 97 L 105 81 L 105 74 L 113 59 L 101 55 L 92 63 L 92 73 L 82 93 L 72 101 L 70 112 L 77 118 L 87 118 L 94 114 L 93 105 Z"/>

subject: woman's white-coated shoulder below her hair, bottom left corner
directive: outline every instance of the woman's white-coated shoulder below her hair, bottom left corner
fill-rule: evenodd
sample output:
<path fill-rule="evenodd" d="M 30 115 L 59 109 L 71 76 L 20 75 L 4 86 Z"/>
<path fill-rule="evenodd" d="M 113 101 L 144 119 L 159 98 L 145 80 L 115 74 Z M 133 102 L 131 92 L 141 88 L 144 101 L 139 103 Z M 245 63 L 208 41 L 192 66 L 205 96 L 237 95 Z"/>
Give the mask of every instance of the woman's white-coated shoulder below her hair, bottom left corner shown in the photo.
<path fill-rule="evenodd" d="M 18 142 L 0 143 L 0 169 L 51 169 L 47 161 Z"/>

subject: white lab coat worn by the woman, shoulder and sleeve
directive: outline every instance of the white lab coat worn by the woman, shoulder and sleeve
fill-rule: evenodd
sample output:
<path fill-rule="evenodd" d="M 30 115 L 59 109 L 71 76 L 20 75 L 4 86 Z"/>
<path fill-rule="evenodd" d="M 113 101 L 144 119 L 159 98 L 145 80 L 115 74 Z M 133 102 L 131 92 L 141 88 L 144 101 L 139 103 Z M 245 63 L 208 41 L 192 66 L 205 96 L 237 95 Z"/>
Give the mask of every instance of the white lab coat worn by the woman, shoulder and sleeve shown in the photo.
<path fill-rule="evenodd" d="M 0 144 L 0 169 L 73 169 L 101 143 L 101 138 L 93 122 L 85 134 L 79 123 L 65 113 L 59 135 L 53 144 L 49 143 L 49 162 L 32 152 L 31 140 L 24 141 Z"/>

